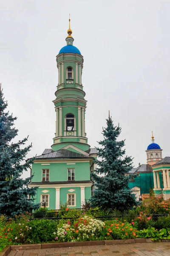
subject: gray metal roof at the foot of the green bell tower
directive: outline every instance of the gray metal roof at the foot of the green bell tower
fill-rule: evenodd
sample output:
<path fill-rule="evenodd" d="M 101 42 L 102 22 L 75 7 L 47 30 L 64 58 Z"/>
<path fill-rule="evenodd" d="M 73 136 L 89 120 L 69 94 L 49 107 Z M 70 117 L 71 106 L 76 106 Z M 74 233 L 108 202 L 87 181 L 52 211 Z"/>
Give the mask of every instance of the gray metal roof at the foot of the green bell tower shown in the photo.
<path fill-rule="evenodd" d="M 48 150 L 48 149 L 45 149 Z M 46 152 L 46 151 L 44 151 Z M 67 149 L 60 149 L 58 151 L 52 151 L 49 153 L 42 153 L 42 155 L 37 156 L 36 159 L 46 159 L 46 158 L 92 158 L 90 156 L 85 156 Z"/>

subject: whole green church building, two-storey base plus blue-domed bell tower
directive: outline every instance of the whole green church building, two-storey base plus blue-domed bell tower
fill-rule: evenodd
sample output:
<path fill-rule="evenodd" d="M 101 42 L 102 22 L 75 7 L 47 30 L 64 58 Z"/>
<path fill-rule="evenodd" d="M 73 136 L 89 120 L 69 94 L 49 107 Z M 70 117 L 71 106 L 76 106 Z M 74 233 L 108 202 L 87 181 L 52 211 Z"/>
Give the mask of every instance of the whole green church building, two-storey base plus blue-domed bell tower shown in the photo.
<path fill-rule="evenodd" d="M 90 148 L 85 132 L 85 92 L 82 86 L 83 56 L 73 45 L 72 30 L 67 45 L 57 55 L 58 85 L 53 103 L 56 111 L 55 137 L 50 149 L 32 165 L 31 186 L 38 186 L 35 202 L 48 209 L 60 204 L 81 208 L 91 197 L 90 171 L 96 148 Z"/>

